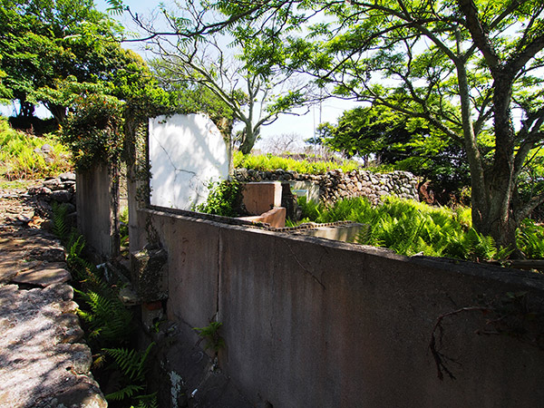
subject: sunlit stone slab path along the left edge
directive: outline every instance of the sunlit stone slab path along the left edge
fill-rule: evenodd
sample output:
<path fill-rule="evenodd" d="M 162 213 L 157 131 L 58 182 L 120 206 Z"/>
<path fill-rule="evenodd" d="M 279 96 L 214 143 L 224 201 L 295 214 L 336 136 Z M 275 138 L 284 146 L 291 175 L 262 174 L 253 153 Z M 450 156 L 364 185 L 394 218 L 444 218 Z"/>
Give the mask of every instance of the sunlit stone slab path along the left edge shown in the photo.
<path fill-rule="evenodd" d="M 0 408 L 102 408 L 64 251 L 26 189 L 0 189 Z"/>

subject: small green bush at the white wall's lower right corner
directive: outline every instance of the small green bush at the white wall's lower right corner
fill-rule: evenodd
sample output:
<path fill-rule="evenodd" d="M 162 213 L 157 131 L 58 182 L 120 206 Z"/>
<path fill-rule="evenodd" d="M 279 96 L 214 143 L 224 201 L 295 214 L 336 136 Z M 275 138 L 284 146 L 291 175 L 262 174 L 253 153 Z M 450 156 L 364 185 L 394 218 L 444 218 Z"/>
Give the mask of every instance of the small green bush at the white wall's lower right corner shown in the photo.
<path fill-rule="evenodd" d="M 223 217 L 237 217 L 242 203 L 242 186 L 237 180 L 210 182 L 206 202 L 195 207 L 196 211 Z"/>

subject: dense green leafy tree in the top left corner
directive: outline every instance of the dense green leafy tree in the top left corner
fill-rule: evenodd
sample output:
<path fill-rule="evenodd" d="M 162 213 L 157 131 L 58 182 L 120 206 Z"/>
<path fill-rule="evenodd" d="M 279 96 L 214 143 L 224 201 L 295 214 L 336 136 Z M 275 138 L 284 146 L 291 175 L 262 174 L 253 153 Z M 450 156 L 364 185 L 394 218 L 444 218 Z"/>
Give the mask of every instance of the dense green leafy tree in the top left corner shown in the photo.
<path fill-rule="evenodd" d="M 0 29 L 3 83 L 27 118 L 43 103 L 62 122 L 81 93 L 111 93 L 114 77 L 141 60 L 114 41 L 121 27 L 91 0 L 1 0 Z"/>

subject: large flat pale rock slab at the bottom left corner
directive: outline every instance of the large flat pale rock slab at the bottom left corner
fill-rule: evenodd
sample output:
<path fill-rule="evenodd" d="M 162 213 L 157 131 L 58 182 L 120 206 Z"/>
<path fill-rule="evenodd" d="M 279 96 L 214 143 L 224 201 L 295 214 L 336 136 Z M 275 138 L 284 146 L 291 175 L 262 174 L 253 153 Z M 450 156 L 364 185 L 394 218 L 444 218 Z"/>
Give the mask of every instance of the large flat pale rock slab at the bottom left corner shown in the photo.
<path fill-rule="evenodd" d="M 0 287 L 0 349 L 10 351 L 9 364 L 2 366 L 0 406 L 107 406 L 89 372 L 89 347 L 66 343 L 81 337 L 77 316 L 63 313 L 65 307 L 59 306 L 59 300 L 70 303 L 72 296 L 66 285 Z"/>

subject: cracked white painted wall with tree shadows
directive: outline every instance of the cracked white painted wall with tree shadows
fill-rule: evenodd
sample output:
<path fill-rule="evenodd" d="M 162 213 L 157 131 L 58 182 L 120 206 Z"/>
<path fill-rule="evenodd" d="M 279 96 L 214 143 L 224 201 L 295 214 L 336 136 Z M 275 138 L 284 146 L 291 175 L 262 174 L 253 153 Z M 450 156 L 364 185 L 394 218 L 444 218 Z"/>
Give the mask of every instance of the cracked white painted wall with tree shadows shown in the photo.
<path fill-rule="evenodd" d="M 210 180 L 226 180 L 230 157 L 203 113 L 150 119 L 151 204 L 191 209 L 206 201 Z"/>

